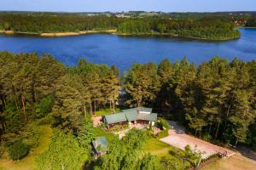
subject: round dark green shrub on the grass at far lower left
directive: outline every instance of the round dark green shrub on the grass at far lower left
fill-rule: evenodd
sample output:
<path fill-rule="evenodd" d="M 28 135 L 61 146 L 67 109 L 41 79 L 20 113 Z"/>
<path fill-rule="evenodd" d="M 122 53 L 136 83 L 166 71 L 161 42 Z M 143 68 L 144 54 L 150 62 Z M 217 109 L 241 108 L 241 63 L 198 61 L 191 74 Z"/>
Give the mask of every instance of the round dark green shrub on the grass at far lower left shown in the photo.
<path fill-rule="evenodd" d="M 9 146 L 9 156 L 12 160 L 18 160 L 26 156 L 30 148 L 28 145 L 23 144 L 22 140 L 16 141 L 14 144 Z"/>

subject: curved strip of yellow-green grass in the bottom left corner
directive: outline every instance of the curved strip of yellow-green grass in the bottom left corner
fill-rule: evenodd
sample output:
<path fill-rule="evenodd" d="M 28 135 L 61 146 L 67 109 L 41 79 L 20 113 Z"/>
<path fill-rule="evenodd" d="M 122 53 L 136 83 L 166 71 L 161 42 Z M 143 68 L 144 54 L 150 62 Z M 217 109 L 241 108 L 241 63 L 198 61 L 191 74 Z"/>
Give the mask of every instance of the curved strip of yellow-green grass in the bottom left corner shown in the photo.
<path fill-rule="evenodd" d="M 9 159 L 8 154 L 4 154 L 3 158 L 0 159 L 0 170 L 32 170 L 36 169 L 36 156 L 48 149 L 50 136 L 52 129 L 49 125 L 41 126 L 42 136 L 39 139 L 38 147 L 31 150 L 28 156 L 21 159 L 20 161 L 12 161 Z"/>

